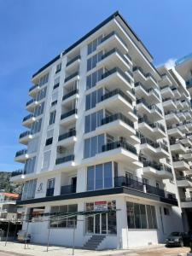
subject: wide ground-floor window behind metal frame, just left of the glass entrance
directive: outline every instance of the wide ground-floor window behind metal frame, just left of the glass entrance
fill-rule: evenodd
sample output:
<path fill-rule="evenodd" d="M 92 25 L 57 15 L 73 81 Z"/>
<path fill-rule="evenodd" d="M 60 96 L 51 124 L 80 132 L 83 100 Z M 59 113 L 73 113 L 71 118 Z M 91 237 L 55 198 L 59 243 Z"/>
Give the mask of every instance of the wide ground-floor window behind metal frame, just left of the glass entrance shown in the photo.
<path fill-rule="evenodd" d="M 73 228 L 77 226 L 77 216 L 56 219 L 57 216 L 65 215 L 68 212 L 78 212 L 78 205 L 65 205 L 59 207 L 51 207 L 50 228 Z"/>

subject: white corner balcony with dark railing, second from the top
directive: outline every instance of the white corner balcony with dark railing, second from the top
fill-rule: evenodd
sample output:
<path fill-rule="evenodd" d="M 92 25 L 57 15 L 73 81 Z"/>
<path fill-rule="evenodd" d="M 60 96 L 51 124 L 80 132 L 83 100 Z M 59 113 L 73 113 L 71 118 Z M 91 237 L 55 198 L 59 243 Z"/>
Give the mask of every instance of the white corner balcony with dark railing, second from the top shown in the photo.
<path fill-rule="evenodd" d="M 125 55 L 123 55 L 119 49 L 113 48 L 106 52 L 101 57 L 101 61 L 98 61 L 96 67 L 107 67 L 108 69 L 112 69 L 113 67 L 118 66 L 122 71 L 126 71 L 130 69 L 130 61 L 127 60 Z"/>

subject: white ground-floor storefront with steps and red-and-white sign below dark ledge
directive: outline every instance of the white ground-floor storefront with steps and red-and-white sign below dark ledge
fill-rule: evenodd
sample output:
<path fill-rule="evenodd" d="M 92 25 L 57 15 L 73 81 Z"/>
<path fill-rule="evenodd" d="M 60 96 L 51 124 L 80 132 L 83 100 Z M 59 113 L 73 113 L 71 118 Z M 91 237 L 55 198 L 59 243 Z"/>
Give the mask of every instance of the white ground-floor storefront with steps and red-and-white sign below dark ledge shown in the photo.
<path fill-rule="evenodd" d="M 22 230 L 28 230 L 32 242 L 46 244 L 49 237 L 49 244 L 72 247 L 74 241 L 75 247 L 98 243 L 96 249 L 109 249 L 164 243 L 183 226 L 177 206 L 121 194 L 28 204 Z"/>

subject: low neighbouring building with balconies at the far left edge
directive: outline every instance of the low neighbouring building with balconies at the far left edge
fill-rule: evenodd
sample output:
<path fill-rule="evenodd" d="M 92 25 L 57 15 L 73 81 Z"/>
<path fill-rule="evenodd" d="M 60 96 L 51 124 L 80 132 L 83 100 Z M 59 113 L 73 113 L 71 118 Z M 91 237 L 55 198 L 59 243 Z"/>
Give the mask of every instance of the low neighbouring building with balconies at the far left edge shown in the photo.
<path fill-rule="evenodd" d="M 0 192 L 0 222 L 20 220 L 21 213 L 16 206 L 18 198 L 18 194 Z"/>

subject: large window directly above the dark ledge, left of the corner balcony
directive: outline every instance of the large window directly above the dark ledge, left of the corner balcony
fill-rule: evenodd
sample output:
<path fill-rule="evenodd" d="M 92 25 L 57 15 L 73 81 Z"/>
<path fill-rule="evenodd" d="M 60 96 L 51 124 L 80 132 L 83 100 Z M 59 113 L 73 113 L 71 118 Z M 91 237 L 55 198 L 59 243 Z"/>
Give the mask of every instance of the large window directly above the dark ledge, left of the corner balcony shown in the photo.
<path fill-rule="evenodd" d="M 87 168 L 87 190 L 108 189 L 113 186 L 112 162 Z"/>

